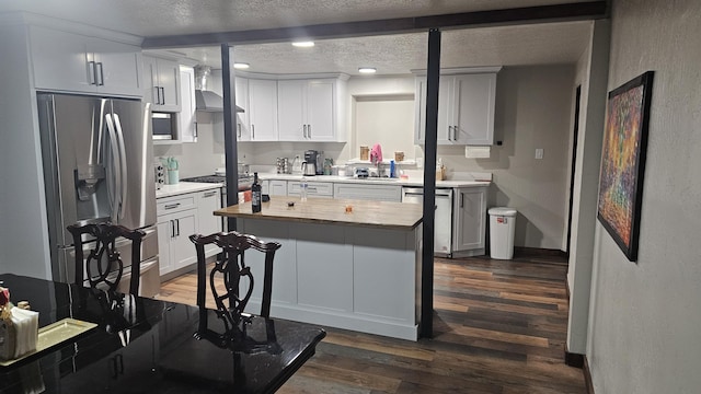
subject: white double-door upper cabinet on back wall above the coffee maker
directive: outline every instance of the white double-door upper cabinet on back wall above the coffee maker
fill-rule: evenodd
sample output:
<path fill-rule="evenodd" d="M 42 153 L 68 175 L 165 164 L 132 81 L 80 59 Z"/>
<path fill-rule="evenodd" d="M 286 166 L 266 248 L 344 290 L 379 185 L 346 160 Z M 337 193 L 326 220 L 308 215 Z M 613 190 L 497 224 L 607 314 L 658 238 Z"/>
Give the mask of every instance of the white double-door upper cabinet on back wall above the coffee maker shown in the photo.
<path fill-rule="evenodd" d="M 336 140 L 336 80 L 277 82 L 280 141 Z"/>

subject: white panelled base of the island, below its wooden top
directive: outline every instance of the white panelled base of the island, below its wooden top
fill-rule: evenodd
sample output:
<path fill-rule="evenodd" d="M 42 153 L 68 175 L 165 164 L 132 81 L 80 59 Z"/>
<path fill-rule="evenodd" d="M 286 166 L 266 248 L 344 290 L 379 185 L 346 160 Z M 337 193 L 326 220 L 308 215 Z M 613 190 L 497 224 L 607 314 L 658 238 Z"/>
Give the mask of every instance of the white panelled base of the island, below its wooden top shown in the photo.
<path fill-rule="evenodd" d="M 264 207 L 265 208 L 265 207 Z M 283 246 L 275 254 L 271 315 L 416 340 L 421 321 L 422 225 L 367 228 L 237 219 L 239 232 Z M 246 254 L 254 278 L 263 259 Z M 262 283 L 249 304 L 260 311 Z"/>

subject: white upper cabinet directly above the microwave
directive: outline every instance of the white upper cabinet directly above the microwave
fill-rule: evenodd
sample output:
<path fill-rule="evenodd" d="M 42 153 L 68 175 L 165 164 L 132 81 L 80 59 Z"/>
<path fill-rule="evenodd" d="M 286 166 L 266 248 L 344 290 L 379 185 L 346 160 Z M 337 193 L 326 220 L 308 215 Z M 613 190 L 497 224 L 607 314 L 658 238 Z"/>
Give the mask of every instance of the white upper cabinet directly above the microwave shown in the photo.
<path fill-rule="evenodd" d="M 177 61 L 145 55 L 143 76 L 146 78 L 143 100 L 153 104 L 151 109 L 164 112 L 182 109 Z"/>

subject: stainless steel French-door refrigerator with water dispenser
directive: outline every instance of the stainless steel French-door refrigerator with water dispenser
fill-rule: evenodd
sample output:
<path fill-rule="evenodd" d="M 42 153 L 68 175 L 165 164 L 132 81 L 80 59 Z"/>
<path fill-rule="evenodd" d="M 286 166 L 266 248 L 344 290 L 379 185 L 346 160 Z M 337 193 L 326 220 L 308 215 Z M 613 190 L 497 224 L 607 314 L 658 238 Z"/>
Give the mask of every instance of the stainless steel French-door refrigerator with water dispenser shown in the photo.
<path fill-rule="evenodd" d="M 150 104 L 81 95 L 37 94 L 54 280 L 74 278 L 72 223 L 141 229 L 139 293 L 160 288 Z M 87 246 L 90 247 L 92 244 Z M 128 289 L 130 243 L 117 243 Z M 87 255 L 85 255 L 87 256 Z"/>

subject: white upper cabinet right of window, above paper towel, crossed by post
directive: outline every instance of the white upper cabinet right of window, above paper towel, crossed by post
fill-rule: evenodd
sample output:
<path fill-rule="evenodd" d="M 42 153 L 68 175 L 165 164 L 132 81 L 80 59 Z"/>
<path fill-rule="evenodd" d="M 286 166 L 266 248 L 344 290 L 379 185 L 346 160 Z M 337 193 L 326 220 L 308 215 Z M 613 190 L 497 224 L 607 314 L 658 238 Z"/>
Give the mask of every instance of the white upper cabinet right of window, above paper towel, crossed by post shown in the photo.
<path fill-rule="evenodd" d="M 494 143 L 496 71 L 441 74 L 438 86 L 438 144 Z M 416 77 L 416 142 L 426 136 L 426 77 Z"/>

